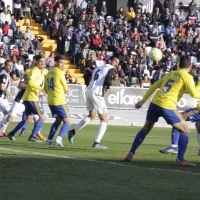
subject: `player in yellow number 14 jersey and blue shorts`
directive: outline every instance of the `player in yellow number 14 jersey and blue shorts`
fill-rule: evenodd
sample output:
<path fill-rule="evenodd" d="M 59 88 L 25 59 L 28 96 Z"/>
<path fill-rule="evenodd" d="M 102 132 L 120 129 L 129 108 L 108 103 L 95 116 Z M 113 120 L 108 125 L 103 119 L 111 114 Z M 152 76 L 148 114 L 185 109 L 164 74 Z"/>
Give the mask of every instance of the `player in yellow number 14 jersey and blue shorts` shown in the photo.
<path fill-rule="evenodd" d="M 68 86 L 65 80 L 63 72 L 65 58 L 62 55 L 55 57 L 56 66 L 53 67 L 46 76 L 45 80 L 45 92 L 48 94 L 48 105 L 51 109 L 53 117 L 56 118 L 55 122 L 51 126 L 51 130 L 48 136 L 46 144 L 64 146 L 62 138 L 68 132 L 71 126 L 71 119 L 66 107 L 65 93 L 68 90 Z M 53 137 L 63 122 L 63 126 L 59 135 L 56 138 L 56 142 L 53 142 Z"/>

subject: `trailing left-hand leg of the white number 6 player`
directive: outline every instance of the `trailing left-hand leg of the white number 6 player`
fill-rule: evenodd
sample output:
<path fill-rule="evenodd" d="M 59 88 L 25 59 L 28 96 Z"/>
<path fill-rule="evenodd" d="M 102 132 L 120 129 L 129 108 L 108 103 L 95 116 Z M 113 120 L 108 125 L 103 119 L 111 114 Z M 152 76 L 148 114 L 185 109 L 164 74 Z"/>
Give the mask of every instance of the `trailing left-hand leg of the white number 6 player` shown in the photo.
<path fill-rule="evenodd" d="M 87 103 L 87 110 L 89 111 L 89 115 L 84 117 L 76 126 L 74 129 L 70 130 L 68 132 L 68 140 L 70 143 L 74 142 L 74 136 L 75 134 L 85 127 L 87 124 L 89 124 L 95 117 L 96 117 L 96 111 L 93 105 L 93 102 L 91 101 L 88 92 L 86 92 L 86 103 Z"/>

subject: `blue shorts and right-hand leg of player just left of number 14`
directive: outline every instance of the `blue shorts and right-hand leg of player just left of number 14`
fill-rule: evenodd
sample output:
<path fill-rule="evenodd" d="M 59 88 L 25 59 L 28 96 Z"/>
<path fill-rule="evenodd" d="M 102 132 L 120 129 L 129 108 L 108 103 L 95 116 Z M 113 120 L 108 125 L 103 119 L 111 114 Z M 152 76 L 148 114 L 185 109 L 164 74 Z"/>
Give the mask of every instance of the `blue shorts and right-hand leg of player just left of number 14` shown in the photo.
<path fill-rule="evenodd" d="M 33 101 L 24 101 L 24 105 L 25 105 L 25 110 L 27 113 L 31 114 L 31 115 L 38 115 L 39 119 L 37 120 L 37 122 L 34 124 L 34 128 L 32 130 L 32 134 L 30 135 L 28 141 L 30 142 L 41 142 L 41 140 L 37 140 L 36 136 L 39 132 L 39 130 L 41 129 L 46 116 L 44 114 L 44 109 L 42 107 L 42 105 L 39 102 L 33 102 Z"/>

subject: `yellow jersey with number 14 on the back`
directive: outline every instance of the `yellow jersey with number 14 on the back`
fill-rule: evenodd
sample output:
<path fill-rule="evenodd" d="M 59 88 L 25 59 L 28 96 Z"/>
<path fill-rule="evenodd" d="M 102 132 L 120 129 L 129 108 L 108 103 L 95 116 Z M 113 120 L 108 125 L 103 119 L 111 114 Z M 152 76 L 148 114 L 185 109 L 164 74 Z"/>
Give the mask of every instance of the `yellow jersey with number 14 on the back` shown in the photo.
<path fill-rule="evenodd" d="M 68 90 L 68 86 L 64 72 L 57 67 L 52 68 L 46 76 L 44 90 L 48 95 L 48 105 L 66 104 L 65 93 Z"/>

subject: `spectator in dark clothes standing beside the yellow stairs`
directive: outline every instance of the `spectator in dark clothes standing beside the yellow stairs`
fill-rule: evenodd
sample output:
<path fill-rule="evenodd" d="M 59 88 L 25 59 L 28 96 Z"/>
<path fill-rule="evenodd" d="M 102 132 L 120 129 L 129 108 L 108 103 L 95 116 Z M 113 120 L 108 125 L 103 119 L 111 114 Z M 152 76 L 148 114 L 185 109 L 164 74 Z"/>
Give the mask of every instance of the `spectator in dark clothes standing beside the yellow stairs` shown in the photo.
<path fill-rule="evenodd" d="M 58 29 L 57 51 L 59 54 L 64 55 L 65 52 L 65 38 L 67 33 L 68 22 L 61 24 Z"/>

